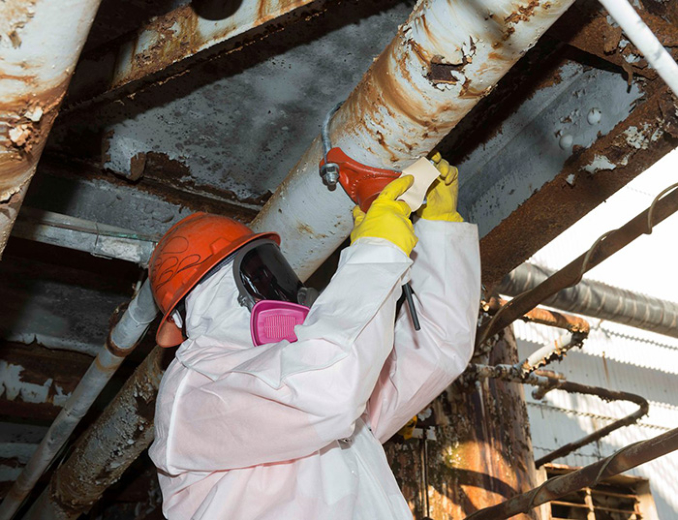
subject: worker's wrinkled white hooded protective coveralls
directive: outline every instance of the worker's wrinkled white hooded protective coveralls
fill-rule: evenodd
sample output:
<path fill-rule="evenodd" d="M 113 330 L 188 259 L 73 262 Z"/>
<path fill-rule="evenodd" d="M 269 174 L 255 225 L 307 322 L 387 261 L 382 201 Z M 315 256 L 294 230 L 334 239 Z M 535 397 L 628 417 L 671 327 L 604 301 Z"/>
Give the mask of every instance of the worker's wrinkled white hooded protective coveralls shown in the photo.
<path fill-rule="evenodd" d="M 380 239 L 344 249 L 292 344 L 252 346 L 230 265 L 193 290 L 150 451 L 165 517 L 412 519 L 381 443 L 462 372 L 480 298 L 476 227 L 415 230 L 412 260 Z M 408 277 L 420 332 L 395 318 Z"/>

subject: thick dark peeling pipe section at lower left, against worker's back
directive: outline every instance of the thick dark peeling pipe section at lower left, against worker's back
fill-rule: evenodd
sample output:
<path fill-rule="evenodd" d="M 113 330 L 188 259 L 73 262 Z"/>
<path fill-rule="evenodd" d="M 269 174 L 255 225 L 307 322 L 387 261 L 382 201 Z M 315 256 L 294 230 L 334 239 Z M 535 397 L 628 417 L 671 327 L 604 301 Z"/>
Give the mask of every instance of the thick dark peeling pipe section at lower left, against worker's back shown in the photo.
<path fill-rule="evenodd" d="M 78 439 L 24 520 L 77 519 L 153 441 L 155 398 L 167 357 L 155 347 L 99 418 Z"/>

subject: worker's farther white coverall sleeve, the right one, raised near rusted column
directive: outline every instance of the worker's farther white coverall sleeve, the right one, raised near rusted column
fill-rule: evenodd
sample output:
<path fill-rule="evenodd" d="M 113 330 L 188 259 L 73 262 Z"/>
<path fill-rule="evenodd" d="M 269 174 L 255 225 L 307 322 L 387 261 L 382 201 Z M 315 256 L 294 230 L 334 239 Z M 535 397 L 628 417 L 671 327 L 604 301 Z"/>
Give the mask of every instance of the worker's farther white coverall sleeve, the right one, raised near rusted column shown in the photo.
<path fill-rule="evenodd" d="M 473 353 L 480 300 L 477 228 L 420 219 L 415 231 L 410 283 L 421 330 L 414 330 L 403 305 L 395 348 L 368 405 L 370 426 L 382 443 L 456 379 Z"/>

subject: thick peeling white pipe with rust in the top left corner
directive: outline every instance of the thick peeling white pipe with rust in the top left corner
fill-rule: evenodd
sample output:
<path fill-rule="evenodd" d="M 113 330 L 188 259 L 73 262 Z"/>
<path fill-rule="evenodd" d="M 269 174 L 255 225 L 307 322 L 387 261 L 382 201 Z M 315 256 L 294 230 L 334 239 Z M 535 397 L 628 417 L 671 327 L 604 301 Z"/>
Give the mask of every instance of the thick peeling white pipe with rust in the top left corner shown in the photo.
<path fill-rule="evenodd" d="M 99 3 L 0 2 L 0 254 Z"/>

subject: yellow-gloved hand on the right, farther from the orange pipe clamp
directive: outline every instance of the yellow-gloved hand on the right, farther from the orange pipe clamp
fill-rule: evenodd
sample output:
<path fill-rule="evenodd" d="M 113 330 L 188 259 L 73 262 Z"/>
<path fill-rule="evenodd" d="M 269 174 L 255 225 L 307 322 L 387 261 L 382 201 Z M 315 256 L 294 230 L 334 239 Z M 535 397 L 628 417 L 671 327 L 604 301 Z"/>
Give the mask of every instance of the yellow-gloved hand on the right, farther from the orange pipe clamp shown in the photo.
<path fill-rule="evenodd" d="M 459 170 L 445 161 L 439 153 L 436 153 L 431 160 L 440 172 L 440 176 L 433 181 L 431 188 L 428 188 L 426 204 L 418 210 L 418 216 L 426 220 L 464 222 L 457 212 Z"/>

